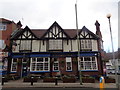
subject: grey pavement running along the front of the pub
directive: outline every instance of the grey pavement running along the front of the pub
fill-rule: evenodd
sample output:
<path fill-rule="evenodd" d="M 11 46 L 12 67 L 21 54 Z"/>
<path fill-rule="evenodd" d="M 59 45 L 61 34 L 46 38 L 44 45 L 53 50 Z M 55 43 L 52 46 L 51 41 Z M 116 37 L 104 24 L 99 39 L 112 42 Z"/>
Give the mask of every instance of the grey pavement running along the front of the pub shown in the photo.
<path fill-rule="evenodd" d="M 80 85 L 79 82 L 76 83 L 62 83 L 58 82 L 58 85 L 55 85 L 55 83 L 43 83 L 41 81 L 34 82 L 33 85 L 31 85 L 31 82 L 23 82 L 22 79 L 15 80 L 15 81 L 9 81 L 5 82 L 4 85 L 2 85 L 2 88 L 99 88 L 99 82 L 96 83 L 82 83 L 83 85 Z M 105 83 L 104 88 L 116 88 L 115 83 Z"/>

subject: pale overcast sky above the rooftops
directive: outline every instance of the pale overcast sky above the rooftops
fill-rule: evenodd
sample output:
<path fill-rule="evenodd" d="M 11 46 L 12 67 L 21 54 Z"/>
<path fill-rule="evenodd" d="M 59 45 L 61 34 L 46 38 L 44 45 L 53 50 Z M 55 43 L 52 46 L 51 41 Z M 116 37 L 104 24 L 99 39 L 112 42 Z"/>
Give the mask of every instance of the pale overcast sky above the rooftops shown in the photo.
<path fill-rule="evenodd" d="M 118 1 L 119 0 L 77 0 L 78 27 L 86 26 L 95 33 L 95 21 L 100 23 L 105 51 L 111 51 L 109 23 L 110 13 L 114 50 L 118 49 Z M 63 29 L 75 29 L 76 0 L 1 0 L 0 17 L 18 22 L 23 28 L 48 29 L 54 21 Z"/>

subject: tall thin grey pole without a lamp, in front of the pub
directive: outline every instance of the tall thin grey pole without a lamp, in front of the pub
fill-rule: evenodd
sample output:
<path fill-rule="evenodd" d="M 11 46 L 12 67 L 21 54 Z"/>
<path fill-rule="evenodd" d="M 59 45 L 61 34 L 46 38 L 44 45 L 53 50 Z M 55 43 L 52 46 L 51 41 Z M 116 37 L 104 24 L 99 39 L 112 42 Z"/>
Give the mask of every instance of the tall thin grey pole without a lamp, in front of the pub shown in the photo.
<path fill-rule="evenodd" d="M 79 79 L 80 85 L 82 85 L 82 74 L 81 74 L 81 59 L 80 59 L 80 43 L 79 43 L 79 35 L 78 35 L 78 18 L 77 18 L 77 0 L 75 4 L 75 14 L 76 14 L 76 30 L 77 30 L 77 44 L 78 44 L 78 71 L 79 71 Z"/>

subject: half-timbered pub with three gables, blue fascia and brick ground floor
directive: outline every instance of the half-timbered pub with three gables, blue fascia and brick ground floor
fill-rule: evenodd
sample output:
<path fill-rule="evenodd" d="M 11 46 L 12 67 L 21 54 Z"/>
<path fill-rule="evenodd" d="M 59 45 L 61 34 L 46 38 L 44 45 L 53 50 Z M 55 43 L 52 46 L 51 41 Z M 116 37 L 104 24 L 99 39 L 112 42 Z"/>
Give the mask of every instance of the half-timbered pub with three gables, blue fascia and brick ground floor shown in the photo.
<path fill-rule="evenodd" d="M 76 29 L 63 29 L 56 21 L 48 29 L 21 28 L 19 21 L 10 38 L 9 74 L 78 76 L 81 66 L 83 75 L 102 75 L 103 40 L 98 21 L 95 26 L 96 34 L 85 26 L 78 29 L 78 55 Z"/>

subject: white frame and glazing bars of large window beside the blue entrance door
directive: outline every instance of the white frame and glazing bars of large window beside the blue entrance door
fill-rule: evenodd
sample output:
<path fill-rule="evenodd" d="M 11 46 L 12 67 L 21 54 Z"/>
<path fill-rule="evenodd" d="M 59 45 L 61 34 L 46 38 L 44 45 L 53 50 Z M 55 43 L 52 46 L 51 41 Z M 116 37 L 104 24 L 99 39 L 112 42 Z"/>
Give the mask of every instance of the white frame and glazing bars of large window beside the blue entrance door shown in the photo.
<path fill-rule="evenodd" d="M 33 62 L 33 58 L 35 59 L 34 62 Z M 30 71 L 50 71 L 50 58 L 48 58 L 48 57 L 37 57 L 37 58 L 36 58 L 36 57 L 33 57 L 33 58 L 31 58 Z M 38 58 L 43 59 L 43 61 L 38 62 L 38 61 L 37 61 Z M 46 58 L 48 59 L 47 62 L 45 61 Z M 35 66 L 34 66 L 35 69 L 34 69 L 34 70 L 33 70 L 33 66 L 32 66 L 33 63 L 35 63 Z M 48 66 L 47 66 L 48 69 L 47 69 L 47 70 L 45 70 L 45 64 L 46 64 L 46 63 L 48 63 Z M 42 69 L 42 70 L 40 70 L 40 69 L 37 70 L 37 65 L 38 65 L 38 64 L 43 64 L 43 69 Z"/>

